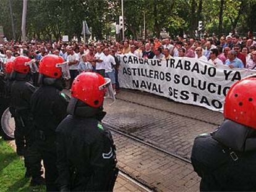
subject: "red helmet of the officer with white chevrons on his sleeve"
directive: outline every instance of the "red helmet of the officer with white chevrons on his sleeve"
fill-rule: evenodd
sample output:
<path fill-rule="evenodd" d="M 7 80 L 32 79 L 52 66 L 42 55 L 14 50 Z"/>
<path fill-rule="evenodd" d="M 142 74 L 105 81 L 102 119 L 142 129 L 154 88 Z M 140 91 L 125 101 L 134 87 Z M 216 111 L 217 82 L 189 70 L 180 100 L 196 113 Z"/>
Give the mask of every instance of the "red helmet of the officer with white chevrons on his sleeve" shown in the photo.
<path fill-rule="evenodd" d="M 71 95 L 91 107 L 103 104 L 107 81 L 98 73 L 85 72 L 78 75 L 71 87 Z"/>

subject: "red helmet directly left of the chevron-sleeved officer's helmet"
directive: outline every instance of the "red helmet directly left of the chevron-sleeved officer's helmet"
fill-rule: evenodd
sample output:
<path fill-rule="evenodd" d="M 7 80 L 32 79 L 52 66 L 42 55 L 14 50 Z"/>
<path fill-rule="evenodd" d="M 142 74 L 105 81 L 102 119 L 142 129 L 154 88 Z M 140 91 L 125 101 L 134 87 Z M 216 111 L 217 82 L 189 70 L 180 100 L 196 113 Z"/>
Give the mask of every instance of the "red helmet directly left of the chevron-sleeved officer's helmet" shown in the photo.
<path fill-rule="evenodd" d="M 39 73 L 51 78 L 60 78 L 62 75 L 61 67 L 56 67 L 56 64 L 61 64 L 64 59 L 56 55 L 44 56 L 39 65 Z"/>

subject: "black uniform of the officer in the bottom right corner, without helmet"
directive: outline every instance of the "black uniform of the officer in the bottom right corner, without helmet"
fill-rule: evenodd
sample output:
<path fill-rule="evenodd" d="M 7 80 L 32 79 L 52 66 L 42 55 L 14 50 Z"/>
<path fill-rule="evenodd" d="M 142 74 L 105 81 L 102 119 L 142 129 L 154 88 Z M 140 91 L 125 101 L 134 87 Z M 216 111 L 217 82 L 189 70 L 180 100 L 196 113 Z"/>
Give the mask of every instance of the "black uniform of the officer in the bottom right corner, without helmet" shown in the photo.
<path fill-rule="evenodd" d="M 192 165 L 200 191 L 256 190 L 256 130 L 224 120 L 218 130 L 195 138 Z"/>

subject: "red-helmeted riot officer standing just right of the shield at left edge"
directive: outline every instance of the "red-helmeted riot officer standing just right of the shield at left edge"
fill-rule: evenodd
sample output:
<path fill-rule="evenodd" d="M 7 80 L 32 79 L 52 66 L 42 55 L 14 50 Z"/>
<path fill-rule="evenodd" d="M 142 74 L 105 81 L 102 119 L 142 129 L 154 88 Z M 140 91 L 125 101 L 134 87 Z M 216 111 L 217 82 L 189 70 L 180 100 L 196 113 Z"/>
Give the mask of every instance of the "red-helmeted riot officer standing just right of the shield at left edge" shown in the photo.
<path fill-rule="evenodd" d="M 35 127 L 30 108 L 30 98 L 35 91 L 35 87 L 28 81 L 30 79 L 30 59 L 19 56 L 13 61 L 14 72 L 12 78 L 14 82 L 11 85 L 11 109 L 15 118 L 15 141 L 18 154 L 21 149 L 24 156 L 26 175 L 32 175 L 31 185 L 44 184 L 41 177 L 41 157 L 36 151 L 30 151 L 30 147 L 35 141 Z M 12 110 L 11 110 L 12 111 Z M 25 146 L 24 146 L 25 145 Z M 20 149 L 19 149 L 20 148 Z"/>

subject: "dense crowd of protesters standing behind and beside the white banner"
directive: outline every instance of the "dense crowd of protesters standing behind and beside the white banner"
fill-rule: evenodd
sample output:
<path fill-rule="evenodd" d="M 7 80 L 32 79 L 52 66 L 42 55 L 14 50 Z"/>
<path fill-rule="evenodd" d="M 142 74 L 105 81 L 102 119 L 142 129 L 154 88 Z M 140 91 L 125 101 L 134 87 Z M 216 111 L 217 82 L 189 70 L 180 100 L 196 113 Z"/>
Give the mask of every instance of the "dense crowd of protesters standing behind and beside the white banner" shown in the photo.
<path fill-rule="evenodd" d="M 232 68 L 256 69 L 256 41 L 253 36 L 227 35 L 219 39 L 215 35 L 208 38 L 182 38 L 176 40 L 125 40 L 90 42 L 87 44 L 56 41 L 15 42 L 0 44 L 2 64 L 17 56 L 27 56 L 40 61 L 43 56 L 55 54 L 69 63 L 70 85 L 81 72 L 98 72 L 108 77 L 113 89 L 119 88 L 118 69 L 120 54 L 134 54 L 144 59 L 170 59 L 171 57 L 192 57 L 209 61 L 214 65 L 228 65 Z M 1 65 L 4 69 L 4 65 Z"/>

